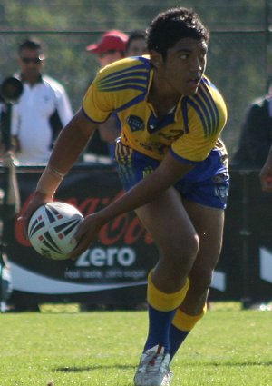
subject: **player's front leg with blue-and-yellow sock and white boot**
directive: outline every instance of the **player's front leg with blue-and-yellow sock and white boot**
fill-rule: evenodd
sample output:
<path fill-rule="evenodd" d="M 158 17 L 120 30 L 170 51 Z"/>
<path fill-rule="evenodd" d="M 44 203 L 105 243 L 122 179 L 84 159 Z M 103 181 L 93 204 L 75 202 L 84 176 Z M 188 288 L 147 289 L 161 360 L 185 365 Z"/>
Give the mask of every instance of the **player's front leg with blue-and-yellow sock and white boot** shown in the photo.
<path fill-rule="evenodd" d="M 150 326 L 134 381 L 136 386 L 167 386 L 170 324 L 188 291 L 188 275 L 199 250 L 199 238 L 174 188 L 136 212 L 158 245 L 160 257 L 149 275 Z"/>

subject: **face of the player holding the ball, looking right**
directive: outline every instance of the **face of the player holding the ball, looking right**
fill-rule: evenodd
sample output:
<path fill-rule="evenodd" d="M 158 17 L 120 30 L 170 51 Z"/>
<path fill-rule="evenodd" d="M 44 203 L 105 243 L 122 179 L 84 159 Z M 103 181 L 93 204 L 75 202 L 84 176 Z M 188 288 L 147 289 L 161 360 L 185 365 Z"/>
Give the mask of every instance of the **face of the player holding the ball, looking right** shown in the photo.
<path fill-rule="evenodd" d="M 208 45 L 204 40 L 180 39 L 167 52 L 167 58 L 158 68 L 173 93 L 192 95 L 198 91 L 206 68 Z"/>

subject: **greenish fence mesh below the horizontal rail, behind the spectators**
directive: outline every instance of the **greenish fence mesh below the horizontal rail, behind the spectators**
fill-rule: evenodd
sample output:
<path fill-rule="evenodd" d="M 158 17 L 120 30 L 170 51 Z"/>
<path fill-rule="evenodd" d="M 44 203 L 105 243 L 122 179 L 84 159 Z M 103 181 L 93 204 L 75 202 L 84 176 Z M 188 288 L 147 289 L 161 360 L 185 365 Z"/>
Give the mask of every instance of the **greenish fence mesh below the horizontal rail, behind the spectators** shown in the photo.
<path fill-rule="evenodd" d="M 83 94 L 98 70 L 95 56 L 85 47 L 99 38 L 98 32 L 1 32 L 0 74 L 2 78 L 17 70 L 19 42 L 29 35 L 39 37 L 47 57 L 44 73 L 66 88 L 76 111 Z M 230 159 L 237 148 L 241 124 L 248 104 L 267 92 L 272 74 L 269 53 L 271 31 L 212 31 L 206 73 L 224 95 L 228 104 L 228 124 L 222 138 Z M 271 56 L 271 57 L 270 57 Z M 0 79 L 1 80 L 1 79 Z"/>

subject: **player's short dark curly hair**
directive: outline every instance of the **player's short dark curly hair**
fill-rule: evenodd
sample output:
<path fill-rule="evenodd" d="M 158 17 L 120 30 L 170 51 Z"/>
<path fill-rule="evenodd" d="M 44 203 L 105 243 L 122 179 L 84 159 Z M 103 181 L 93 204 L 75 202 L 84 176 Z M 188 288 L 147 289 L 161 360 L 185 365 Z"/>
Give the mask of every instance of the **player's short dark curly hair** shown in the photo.
<path fill-rule="evenodd" d="M 199 15 L 189 8 L 172 8 L 160 13 L 147 30 L 148 51 L 159 52 L 166 59 L 167 50 L 180 39 L 191 37 L 208 42 L 209 31 Z"/>

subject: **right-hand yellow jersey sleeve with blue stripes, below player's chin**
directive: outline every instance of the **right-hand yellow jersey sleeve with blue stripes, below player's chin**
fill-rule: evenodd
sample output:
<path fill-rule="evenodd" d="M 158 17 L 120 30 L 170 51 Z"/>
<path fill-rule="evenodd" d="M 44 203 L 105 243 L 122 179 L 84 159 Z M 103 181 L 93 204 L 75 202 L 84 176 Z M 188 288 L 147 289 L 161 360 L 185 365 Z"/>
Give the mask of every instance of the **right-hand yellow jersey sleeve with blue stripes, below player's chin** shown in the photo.
<path fill-rule="evenodd" d="M 205 78 L 197 94 L 181 101 L 184 134 L 171 144 L 172 155 L 185 163 L 205 160 L 227 121 L 227 107 L 219 91 Z"/>

